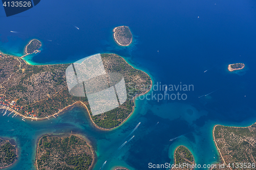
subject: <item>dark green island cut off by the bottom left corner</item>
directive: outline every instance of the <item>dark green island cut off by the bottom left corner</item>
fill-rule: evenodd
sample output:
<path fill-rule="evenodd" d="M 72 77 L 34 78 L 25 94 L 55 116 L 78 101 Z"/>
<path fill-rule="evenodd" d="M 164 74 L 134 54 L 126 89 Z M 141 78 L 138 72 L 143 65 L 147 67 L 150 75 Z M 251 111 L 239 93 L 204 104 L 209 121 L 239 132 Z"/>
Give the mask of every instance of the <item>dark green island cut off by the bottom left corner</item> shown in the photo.
<path fill-rule="evenodd" d="M 0 169 L 10 166 L 17 160 L 17 149 L 9 140 L 0 139 Z"/>

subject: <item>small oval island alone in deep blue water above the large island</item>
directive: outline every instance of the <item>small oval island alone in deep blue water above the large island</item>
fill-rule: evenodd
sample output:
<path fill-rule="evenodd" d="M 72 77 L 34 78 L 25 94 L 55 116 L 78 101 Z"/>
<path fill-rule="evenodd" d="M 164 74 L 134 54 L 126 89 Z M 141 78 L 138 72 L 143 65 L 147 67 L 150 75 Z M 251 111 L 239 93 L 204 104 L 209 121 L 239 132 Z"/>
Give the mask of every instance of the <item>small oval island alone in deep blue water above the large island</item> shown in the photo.
<path fill-rule="evenodd" d="M 120 27 L 114 28 L 113 37 L 116 43 L 118 43 L 121 46 L 128 46 L 133 41 L 133 35 L 129 27 L 126 27 L 126 26 L 120 26 Z"/>

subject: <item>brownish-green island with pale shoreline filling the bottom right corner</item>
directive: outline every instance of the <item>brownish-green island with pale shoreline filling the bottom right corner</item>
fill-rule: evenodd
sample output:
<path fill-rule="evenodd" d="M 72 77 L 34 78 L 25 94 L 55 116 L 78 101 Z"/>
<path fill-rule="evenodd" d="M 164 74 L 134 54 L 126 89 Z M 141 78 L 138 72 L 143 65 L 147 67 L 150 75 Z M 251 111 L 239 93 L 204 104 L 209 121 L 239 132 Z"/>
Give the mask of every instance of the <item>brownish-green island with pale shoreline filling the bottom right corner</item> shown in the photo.
<path fill-rule="evenodd" d="M 222 164 L 225 166 L 213 169 L 255 169 L 256 124 L 249 127 L 216 125 L 213 136 Z M 241 164 L 243 168 L 238 168 Z"/>

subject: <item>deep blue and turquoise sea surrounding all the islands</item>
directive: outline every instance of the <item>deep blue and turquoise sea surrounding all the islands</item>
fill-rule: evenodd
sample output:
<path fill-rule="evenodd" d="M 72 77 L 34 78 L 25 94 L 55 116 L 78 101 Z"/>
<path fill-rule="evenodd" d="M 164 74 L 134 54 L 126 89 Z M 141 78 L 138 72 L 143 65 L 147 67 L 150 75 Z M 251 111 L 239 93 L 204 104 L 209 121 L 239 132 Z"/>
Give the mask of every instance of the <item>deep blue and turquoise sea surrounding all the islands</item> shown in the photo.
<path fill-rule="evenodd" d="M 71 131 L 92 142 L 96 170 L 105 161 L 101 169 L 142 170 L 153 169 L 148 163 L 173 163 L 178 145 L 185 145 L 197 164 L 218 163 L 214 125 L 256 122 L 255 9 L 252 0 L 45 0 L 6 17 L 0 7 L 3 53 L 23 56 L 25 45 L 36 38 L 42 42 L 41 53 L 25 57 L 33 65 L 73 63 L 97 53 L 115 53 L 150 75 L 153 85 L 194 87 L 167 91 L 184 94 L 185 100 L 157 100 L 153 96 L 161 96 L 163 90 L 152 89 L 150 100 L 137 98 L 134 113 L 111 131 L 96 129 L 86 110 L 78 106 L 37 122 L 0 115 L 0 136 L 15 139 L 18 147 L 18 160 L 6 169 L 36 169 L 37 139 Z M 123 25 L 130 27 L 134 38 L 127 47 L 117 45 L 112 36 L 112 30 Z M 229 72 L 232 63 L 244 63 L 245 68 Z"/>

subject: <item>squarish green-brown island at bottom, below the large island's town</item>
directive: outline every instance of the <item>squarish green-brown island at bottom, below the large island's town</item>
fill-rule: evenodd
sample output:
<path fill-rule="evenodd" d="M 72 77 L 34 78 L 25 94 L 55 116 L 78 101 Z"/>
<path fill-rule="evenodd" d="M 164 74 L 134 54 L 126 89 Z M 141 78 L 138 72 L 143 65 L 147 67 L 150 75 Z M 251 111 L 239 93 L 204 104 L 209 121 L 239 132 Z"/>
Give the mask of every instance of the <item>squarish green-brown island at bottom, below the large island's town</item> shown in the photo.
<path fill-rule="evenodd" d="M 93 151 L 88 143 L 75 135 L 43 136 L 37 145 L 36 165 L 40 169 L 90 169 Z"/>

